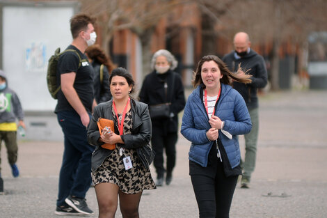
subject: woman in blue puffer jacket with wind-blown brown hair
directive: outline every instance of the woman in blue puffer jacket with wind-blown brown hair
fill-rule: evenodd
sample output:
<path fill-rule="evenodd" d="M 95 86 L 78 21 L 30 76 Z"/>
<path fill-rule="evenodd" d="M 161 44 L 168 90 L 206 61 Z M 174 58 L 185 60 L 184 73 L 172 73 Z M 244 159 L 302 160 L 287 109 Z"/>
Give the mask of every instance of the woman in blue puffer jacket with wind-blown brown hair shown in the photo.
<path fill-rule="evenodd" d="M 250 132 L 246 103 L 231 86 L 250 75 L 232 74 L 217 56 L 202 57 L 195 72 L 196 90 L 189 95 L 181 133 L 191 141 L 189 173 L 200 217 L 229 217 L 241 174 L 237 135 Z"/>

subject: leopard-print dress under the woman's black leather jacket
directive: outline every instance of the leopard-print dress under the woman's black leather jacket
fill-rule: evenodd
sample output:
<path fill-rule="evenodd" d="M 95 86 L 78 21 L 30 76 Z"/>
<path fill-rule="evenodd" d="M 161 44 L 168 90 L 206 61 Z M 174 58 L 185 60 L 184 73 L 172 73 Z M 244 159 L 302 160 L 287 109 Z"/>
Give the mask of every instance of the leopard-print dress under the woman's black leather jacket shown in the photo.
<path fill-rule="evenodd" d="M 117 121 L 115 123 L 117 123 Z M 124 134 L 130 133 L 131 127 L 131 111 L 129 111 L 124 120 Z M 126 194 L 136 194 L 144 189 L 155 189 L 156 185 L 152 179 L 150 169 L 145 169 L 141 160 L 138 158 L 136 150 L 124 149 L 122 155 L 120 155 L 120 148 L 119 145 L 116 145 L 113 153 L 104 159 L 104 162 L 96 171 L 92 172 L 92 181 L 94 185 L 103 182 L 113 183 L 118 185 L 120 191 Z M 133 167 L 125 170 L 122 159 L 128 156 L 131 157 L 131 164 Z"/>

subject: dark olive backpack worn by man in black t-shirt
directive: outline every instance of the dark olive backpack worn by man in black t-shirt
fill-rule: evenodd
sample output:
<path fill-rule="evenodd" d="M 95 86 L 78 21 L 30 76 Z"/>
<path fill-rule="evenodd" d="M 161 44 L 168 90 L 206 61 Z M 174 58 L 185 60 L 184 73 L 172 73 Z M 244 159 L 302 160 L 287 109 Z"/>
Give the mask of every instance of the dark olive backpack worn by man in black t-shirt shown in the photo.
<path fill-rule="evenodd" d="M 57 65 L 58 60 L 61 54 L 65 52 L 75 52 L 77 56 L 79 56 L 79 52 L 74 49 L 66 49 L 63 52 L 60 52 L 60 47 L 56 49 L 54 55 L 52 55 L 49 59 L 48 70 L 47 70 L 47 86 L 50 95 L 52 98 L 57 99 L 57 93 L 61 89 L 61 85 L 57 86 Z M 79 56 L 79 68 L 81 67 L 81 56 Z"/>

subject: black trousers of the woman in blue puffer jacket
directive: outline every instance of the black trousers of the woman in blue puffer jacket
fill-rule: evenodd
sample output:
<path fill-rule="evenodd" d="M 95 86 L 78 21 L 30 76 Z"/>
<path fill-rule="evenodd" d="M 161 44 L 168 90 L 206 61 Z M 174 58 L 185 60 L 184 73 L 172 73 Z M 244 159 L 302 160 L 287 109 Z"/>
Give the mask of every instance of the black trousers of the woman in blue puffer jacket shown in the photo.
<path fill-rule="evenodd" d="M 190 167 L 191 165 L 195 166 L 195 164 L 193 162 Z M 198 165 L 196 167 L 202 166 Z M 237 178 L 238 176 L 225 177 L 223 163 L 218 158 L 216 171 L 212 175 L 206 175 L 206 173 L 191 174 L 200 218 L 230 217 L 230 205 L 237 185 Z"/>

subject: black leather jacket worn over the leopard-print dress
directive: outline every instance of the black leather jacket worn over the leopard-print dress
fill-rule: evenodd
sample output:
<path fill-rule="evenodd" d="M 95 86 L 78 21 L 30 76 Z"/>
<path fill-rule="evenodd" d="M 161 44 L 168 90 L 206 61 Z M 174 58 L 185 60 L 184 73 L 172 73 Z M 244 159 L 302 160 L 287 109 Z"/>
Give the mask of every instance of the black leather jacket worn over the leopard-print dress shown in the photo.
<path fill-rule="evenodd" d="M 104 162 L 104 159 L 111 155 L 113 150 L 102 148 L 104 144 L 99 141 L 100 133 L 97 127 L 98 118 L 106 118 L 113 120 L 112 111 L 113 101 L 103 102 L 98 104 L 94 109 L 92 119 L 88 125 L 88 143 L 96 146 L 92 154 L 92 171 L 95 171 Z M 131 134 L 123 134 L 122 141 L 125 144 L 120 144 L 120 147 L 127 149 L 140 148 L 150 142 L 152 136 L 152 123 L 150 119 L 147 104 L 131 99 L 131 117 L 133 119 L 133 129 Z M 117 125 L 115 124 L 115 133 L 118 133 Z"/>

